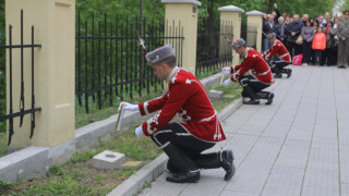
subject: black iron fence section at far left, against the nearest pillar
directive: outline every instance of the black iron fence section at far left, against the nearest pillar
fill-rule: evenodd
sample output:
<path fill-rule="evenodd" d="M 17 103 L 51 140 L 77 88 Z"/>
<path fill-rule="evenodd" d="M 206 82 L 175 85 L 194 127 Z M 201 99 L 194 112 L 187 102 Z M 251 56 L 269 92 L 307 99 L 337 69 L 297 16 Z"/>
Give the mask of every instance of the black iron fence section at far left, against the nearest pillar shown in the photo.
<path fill-rule="evenodd" d="M 21 10 L 21 44 L 20 45 L 13 45 L 12 44 L 12 30 L 13 29 L 19 29 L 13 27 L 12 25 L 9 25 L 9 45 L 7 46 L 0 46 L 0 49 L 7 49 L 9 50 L 9 57 L 8 57 L 8 64 L 9 66 L 8 69 L 8 76 L 9 78 L 7 78 L 7 81 L 9 82 L 9 111 L 8 114 L 0 117 L 0 122 L 2 121 L 9 121 L 9 139 L 8 139 L 8 146 L 11 144 L 11 137 L 14 134 L 14 123 L 13 123 L 13 119 L 14 118 L 20 118 L 20 126 L 23 125 L 23 118 L 26 114 L 31 114 L 31 138 L 33 137 L 34 134 L 34 128 L 35 128 L 35 112 L 36 111 L 40 111 L 41 108 L 37 108 L 35 107 L 35 95 L 34 95 L 34 50 L 35 48 L 40 48 L 41 45 L 37 45 L 34 41 L 34 26 L 32 26 L 32 41 L 28 45 L 24 44 L 24 33 L 23 33 L 23 10 Z M 20 58 L 21 59 L 21 63 L 20 64 L 14 64 L 12 63 L 13 61 L 13 49 L 20 49 L 20 57 L 15 57 L 15 58 Z M 31 62 L 24 62 L 24 49 L 29 49 L 31 50 Z M 25 65 L 31 65 L 32 69 L 32 78 L 31 78 L 31 108 L 29 107 L 25 107 L 25 84 L 24 84 L 24 66 Z M 13 69 L 20 69 L 21 70 L 21 74 L 19 77 L 16 77 L 17 75 L 13 74 Z M 15 76 L 15 78 L 13 78 L 13 76 Z M 14 97 L 13 96 L 13 89 L 16 89 L 17 87 L 13 86 L 13 81 L 21 81 L 20 83 L 20 97 Z M 13 100 L 19 100 L 20 101 L 20 111 L 14 112 L 13 110 Z M 26 109 L 29 108 L 29 109 Z"/>

